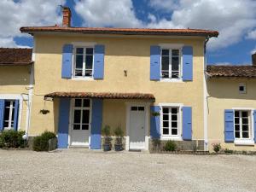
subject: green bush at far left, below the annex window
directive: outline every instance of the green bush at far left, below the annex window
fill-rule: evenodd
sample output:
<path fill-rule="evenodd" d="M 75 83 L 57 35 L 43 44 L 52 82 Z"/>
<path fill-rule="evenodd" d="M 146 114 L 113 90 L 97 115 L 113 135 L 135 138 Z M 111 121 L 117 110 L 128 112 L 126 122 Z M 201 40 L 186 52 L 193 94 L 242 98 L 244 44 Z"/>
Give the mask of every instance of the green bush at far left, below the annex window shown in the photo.
<path fill-rule="evenodd" d="M 25 131 L 6 130 L 0 134 L 0 148 L 24 148 L 26 141 L 22 139 Z"/>

